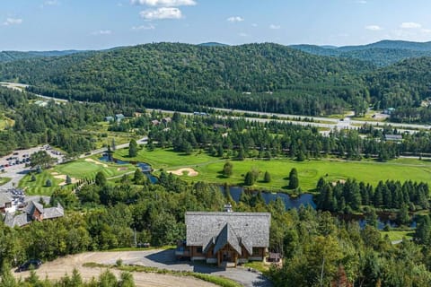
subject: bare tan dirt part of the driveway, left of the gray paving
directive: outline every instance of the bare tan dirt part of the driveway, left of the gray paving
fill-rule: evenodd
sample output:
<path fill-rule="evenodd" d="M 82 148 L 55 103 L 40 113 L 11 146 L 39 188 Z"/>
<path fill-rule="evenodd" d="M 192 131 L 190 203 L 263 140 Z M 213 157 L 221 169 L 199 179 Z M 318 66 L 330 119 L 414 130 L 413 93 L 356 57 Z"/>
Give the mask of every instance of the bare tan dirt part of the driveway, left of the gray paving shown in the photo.
<path fill-rule="evenodd" d="M 44 263 L 40 266 L 36 273 L 41 279 L 48 276 L 51 280 L 58 280 L 65 274 L 72 274 L 74 268 L 76 268 L 84 280 L 90 280 L 92 277 L 98 277 L 104 268 L 88 268 L 83 267 L 86 262 L 97 262 L 105 263 L 110 261 L 116 261 L 119 257 L 123 260 L 134 259 L 131 254 L 127 252 L 88 252 L 78 254 L 75 256 L 67 256 L 58 258 L 52 262 Z M 119 277 L 119 270 L 112 269 L 111 272 Z M 30 272 L 14 273 L 15 277 L 28 277 Z M 179 277 L 170 274 L 150 274 L 150 273 L 133 273 L 135 283 L 137 287 L 215 287 L 215 284 L 207 283 L 193 277 Z"/>

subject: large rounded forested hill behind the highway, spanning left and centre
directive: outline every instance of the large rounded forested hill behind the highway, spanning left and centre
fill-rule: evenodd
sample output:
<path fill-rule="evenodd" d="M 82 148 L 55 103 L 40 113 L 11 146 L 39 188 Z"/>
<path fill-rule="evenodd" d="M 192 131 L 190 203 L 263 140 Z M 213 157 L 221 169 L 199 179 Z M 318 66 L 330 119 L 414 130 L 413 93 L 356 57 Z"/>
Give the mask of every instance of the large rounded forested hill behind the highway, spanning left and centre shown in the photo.
<path fill-rule="evenodd" d="M 2 80 L 75 100 L 194 110 L 202 107 L 320 115 L 365 97 L 373 65 L 277 44 L 157 43 L 0 66 Z"/>

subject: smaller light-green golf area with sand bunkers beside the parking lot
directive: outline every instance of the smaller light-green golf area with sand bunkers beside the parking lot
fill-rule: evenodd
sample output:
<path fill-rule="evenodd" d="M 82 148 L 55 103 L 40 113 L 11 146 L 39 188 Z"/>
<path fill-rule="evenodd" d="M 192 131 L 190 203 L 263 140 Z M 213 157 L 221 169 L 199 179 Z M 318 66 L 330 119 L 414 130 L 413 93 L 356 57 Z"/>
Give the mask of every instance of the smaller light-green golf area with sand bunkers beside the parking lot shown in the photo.
<path fill-rule="evenodd" d="M 49 196 L 55 189 L 60 187 L 61 183 L 65 182 L 65 179 L 60 178 L 61 176 L 68 175 L 73 179 L 94 178 L 96 173 L 101 171 L 106 178 L 113 178 L 135 170 L 136 168 L 132 165 L 106 164 L 103 162 L 96 164 L 92 161 L 78 160 L 59 164 L 50 170 L 44 170 L 40 174 L 35 173 L 36 181 L 31 181 L 30 174 L 26 175 L 18 186 L 24 188 L 27 195 Z M 45 187 L 47 179 L 52 181 L 52 187 Z"/>

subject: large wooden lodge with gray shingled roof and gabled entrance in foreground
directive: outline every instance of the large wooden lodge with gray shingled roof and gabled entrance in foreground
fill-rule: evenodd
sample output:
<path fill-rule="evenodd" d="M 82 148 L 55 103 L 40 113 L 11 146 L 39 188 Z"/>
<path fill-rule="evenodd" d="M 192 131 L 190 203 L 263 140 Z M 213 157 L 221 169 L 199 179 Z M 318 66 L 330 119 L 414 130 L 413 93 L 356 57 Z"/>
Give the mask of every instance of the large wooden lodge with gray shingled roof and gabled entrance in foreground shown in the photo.
<path fill-rule="evenodd" d="M 206 260 L 218 266 L 263 261 L 268 252 L 270 213 L 187 212 L 187 239 L 177 257 Z"/>

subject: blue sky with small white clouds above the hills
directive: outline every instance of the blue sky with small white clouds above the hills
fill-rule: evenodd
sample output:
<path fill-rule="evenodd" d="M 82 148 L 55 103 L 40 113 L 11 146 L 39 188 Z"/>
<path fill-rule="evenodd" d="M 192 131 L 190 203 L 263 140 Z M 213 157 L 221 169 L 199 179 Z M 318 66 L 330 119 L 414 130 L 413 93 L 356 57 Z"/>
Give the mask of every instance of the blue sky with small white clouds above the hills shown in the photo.
<path fill-rule="evenodd" d="M 0 50 L 431 40 L 429 0 L 0 0 Z"/>

